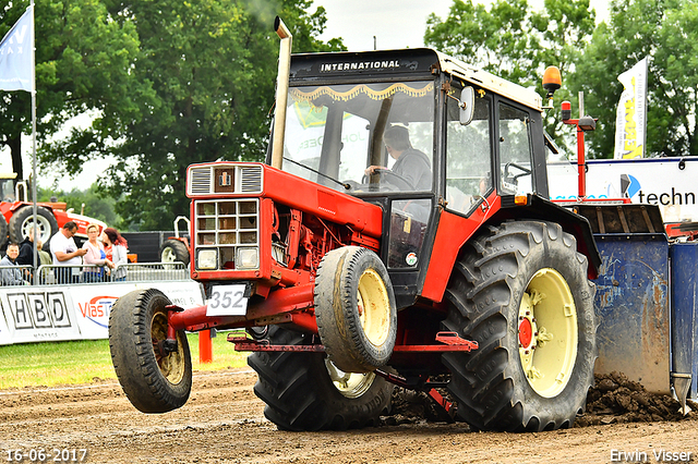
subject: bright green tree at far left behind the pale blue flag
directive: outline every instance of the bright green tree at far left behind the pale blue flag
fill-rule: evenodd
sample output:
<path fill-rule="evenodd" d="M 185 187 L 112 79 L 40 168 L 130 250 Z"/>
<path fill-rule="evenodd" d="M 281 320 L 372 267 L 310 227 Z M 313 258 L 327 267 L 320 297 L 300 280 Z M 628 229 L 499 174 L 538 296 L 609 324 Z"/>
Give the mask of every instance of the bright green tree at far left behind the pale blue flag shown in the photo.
<path fill-rule="evenodd" d="M 28 1 L 0 1 L 0 35 L 24 13 Z M 45 160 L 61 159 L 80 169 L 105 141 L 124 133 L 153 94 L 131 72 L 140 54 L 131 22 L 115 22 L 99 0 L 39 0 L 35 5 L 37 141 L 46 142 L 65 121 L 93 110 L 92 126 L 68 141 L 41 144 Z M 0 145 L 10 147 L 12 166 L 23 175 L 21 135 L 32 133 L 31 94 L 0 93 Z M 75 156 L 63 157 L 64 152 Z"/>

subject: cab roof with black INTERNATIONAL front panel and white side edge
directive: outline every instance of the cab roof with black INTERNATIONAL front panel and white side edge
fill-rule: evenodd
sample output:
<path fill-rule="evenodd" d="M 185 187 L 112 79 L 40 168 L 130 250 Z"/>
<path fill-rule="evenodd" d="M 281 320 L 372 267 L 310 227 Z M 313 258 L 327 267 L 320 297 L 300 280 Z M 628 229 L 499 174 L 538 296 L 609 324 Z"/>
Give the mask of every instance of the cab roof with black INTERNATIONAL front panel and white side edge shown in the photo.
<path fill-rule="evenodd" d="M 541 111 L 542 99 L 535 91 L 430 48 L 293 54 L 290 83 L 418 80 L 440 72 Z"/>

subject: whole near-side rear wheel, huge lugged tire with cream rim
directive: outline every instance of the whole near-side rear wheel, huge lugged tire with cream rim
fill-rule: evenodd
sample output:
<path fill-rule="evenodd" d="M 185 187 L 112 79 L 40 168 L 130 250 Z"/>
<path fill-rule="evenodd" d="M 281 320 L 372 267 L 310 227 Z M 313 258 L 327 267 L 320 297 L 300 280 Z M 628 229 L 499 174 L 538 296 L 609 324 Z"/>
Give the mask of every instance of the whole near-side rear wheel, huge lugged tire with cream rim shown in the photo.
<path fill-rule="evenodd" d="M 443 356 L 459 418 L 480 430 L 570 427 L 593 382 L 594 292 L 558 224 L 505 222 L 474 239 L 446 292 L 446 330 L 480 344 Z"/>

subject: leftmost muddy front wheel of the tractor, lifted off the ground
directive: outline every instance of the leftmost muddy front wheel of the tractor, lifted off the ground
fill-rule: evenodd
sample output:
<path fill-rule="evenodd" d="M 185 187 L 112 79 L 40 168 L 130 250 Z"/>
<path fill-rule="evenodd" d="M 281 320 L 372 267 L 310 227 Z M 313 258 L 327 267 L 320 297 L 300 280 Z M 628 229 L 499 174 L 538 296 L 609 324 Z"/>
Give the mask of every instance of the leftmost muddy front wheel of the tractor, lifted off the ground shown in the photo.
<path fill-rule="evenodd" d="M 192 359 L 183 330 L 177 349 L 164 350 L 169 298 L 159 290 L 134 290 L 121 296 L 109 315 L 111 361 L 127 398 L 143 413 L 167 413 L 186 403 Z"/>

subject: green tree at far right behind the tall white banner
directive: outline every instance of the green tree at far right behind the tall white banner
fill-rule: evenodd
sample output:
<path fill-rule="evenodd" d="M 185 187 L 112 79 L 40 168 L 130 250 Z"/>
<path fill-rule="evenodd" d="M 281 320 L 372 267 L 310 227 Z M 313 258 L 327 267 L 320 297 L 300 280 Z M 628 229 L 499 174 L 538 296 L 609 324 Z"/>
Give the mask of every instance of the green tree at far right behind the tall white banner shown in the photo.
<path fill-rule="evenodd" d="M 623 85 L 616 77 L 649 58 L 646 156 L 698 155 L 698 3 L 695 0 L 614 1 L 609 24 L 600 24 L 576 85 L 588 112 L 599 117 L 589 137 L 598 158 L 613 158 L 616 107 Z"/>

